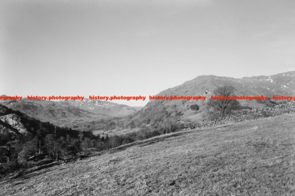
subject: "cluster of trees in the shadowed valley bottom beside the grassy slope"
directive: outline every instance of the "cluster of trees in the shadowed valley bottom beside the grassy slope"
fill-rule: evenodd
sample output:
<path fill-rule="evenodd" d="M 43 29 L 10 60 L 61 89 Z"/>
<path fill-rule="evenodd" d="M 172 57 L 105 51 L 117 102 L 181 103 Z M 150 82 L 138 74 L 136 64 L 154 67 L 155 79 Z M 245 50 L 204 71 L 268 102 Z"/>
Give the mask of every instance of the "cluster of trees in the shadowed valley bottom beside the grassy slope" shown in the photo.
<path fill-rule="evenodd" d="M 0 174 L 34 166 L 38 164 L 37 161 L 42 164 L 45 158 L 51 162 L 60 159 L 73 160 L 81 156 L 87 148 L 110 148 L 113 141 L 108 135 L 94 136 L 91 132 L 60 135 L 40 131 L 33 137 L 21 136 L 0 147 Z"/>

